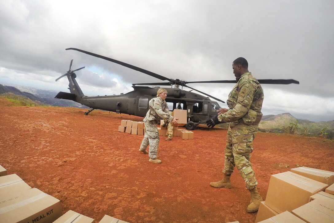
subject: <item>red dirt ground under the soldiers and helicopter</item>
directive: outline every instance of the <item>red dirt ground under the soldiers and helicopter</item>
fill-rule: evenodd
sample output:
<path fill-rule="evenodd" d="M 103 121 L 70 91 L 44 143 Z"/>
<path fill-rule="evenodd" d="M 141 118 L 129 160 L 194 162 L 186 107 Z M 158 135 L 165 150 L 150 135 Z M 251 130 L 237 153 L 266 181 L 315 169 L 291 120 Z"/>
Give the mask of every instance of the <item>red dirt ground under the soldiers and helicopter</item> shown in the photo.
<path fill-rule="evenodd" d="M 69 107 L 16 107 L 0 98 L 0 164 L 32 188 L 100 221 L 105 214 L 128 222 L 254 222 L 250 194 L 235 169 L 232 188 L 222 178 L 226 130 L 194 130 L 193 140 L 161 137 L 158 158 L 139 153 L 143 136 L 118 132 L 121 120 L 142 121 Z M 270 175 L 297 165 L 334 171 L 334 144 L 323 138 L 258 133 L 252 154 L 265 199 Z"/>

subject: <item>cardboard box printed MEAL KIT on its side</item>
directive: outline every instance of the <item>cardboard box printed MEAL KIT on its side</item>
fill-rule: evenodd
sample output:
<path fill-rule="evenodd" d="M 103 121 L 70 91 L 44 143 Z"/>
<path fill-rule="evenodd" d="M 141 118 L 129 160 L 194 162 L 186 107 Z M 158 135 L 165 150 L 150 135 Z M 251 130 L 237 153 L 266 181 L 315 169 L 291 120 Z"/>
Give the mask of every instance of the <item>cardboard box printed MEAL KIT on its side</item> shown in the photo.
<path fill-rule="evenodd" d="M 48 223 L 61 214 L 60 201 L 37 188 L 8 194 L 0 201 L 1 222 Z"/>

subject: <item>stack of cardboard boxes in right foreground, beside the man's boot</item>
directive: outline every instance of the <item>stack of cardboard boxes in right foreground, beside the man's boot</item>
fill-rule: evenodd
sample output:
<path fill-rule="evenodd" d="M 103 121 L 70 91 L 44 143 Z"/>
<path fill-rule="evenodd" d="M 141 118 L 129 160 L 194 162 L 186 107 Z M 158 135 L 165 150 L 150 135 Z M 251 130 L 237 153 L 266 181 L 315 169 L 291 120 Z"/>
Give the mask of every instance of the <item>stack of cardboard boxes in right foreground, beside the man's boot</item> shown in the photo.
<path fill-rule="evenodd" d="M 308 167 L 274 174 L 255 222 L 334 222 L 333 183 L 334 172 Z"/>

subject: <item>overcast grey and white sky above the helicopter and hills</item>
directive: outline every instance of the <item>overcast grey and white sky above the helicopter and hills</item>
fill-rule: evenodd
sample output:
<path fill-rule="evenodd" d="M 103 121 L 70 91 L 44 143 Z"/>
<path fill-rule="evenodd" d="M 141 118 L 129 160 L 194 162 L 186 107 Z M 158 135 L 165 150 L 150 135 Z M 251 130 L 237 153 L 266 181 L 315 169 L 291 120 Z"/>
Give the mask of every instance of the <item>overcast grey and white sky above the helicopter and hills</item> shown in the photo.
<path fill-rule="evenodd" d="M 78 48 L 186 81 L 233 80 L 248 61 L 263 84 L 264 115 L 334 120 L 333 0 L 0 1 L 0 82 L 69 92 L 71 59 L 89 96 L 162 82 Z M 226 101 L 234 84 L 189 84 Z M 183 88 L 184 90 L 190 90 Z M 222 104 L 227 107 L 226 104 Z"/>

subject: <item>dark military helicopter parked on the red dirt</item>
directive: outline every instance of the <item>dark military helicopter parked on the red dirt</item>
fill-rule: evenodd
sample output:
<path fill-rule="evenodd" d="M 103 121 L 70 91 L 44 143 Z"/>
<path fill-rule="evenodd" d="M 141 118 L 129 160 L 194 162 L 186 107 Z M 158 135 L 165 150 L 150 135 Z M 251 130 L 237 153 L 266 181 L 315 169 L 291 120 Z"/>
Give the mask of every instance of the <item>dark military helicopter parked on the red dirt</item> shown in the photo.
<path fill-rule="evenodd" d="M 188 82 L 180 79 L 172 79 L 161 76 L 159 74 L 144 70 L 142 68 L 114 60 L 105 56 L 98 54 L 90 53 L 87 51 L 79 50 L 76 48 L 68 48 L 66 50 L 76 50 L 94 57 L 98 57 L 104 60 L 108 60 L 122 66 L 140 71 L 142 73 L 148 74 L 152 77 L 158 78 L 163 81 L 168 82 L 157 82 L 157 83 L 136 83 L 132 84 L 134 90 L 125 94 L 120 95 L 105 95 L 105 96 L 85 96 L 81 91 L 78 83 L 76 82 L 75 71 L 83 69 L 85 67 L 78 68 L 76 70 L 71 70 L 72 61 L 69 65 L 69 70 L 56 79 L 67 76 L 69 85 L 68 89 L 70 93 L 59 92 L 55 98 L 73 100 L 80 104 L 90 107 L 88 111 L 85 112 L 85 115 L 88 115 L 94 109 L 101 109 L 107 111 L 113 111 L 119 114 L 128 114 L 135 115 L 139 117 L 145 117 L 149 106 L 148 102 L 156 97 L 157 91 L 160 87 L 148 87 L 148 86 L 136 86 L 136 85 L 152 85 L 152 86 L 171 86 L 170 88 L 165 88 L 168 92 L 167 98 L 165 99 L 168 103 L 170 110 L 173 109 L 183 109 L 187 110 L 187 124 L 185 128 L 188 130 L 194 130 L 199 124 L 203 124 L 207 119 L 211 118 L 214 115 L 218 114 L 218 109 L 221 108 L 216 101 L 212 101 L 210 98 L 213 98 L 217 101 L 225 103 L 224 101 L 213 97 L 209 94 L 206 94 L 202 91 L 196 90 L 192 87 L 189 87 L 187 84 L 190 83 L 236 83 L 236 80 L 217 80 L 217 81 L 192 81 Z M 299 81 L 293 79 L 262 79 L 258 80 L 261 84 L 299 84 Z M 173 87 L 174 86 L 174 87 Z M 181 88 L 180 88 L 181 86 Z M 183 90 L 183 87 L 188 87 L 192 89 L 191 91 Z M 201 94 L 192 92 L 197 91 Z M 210 97 L 210 98 L 209 98 Z"/>

